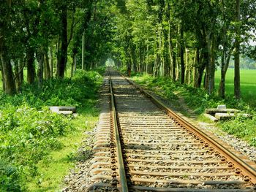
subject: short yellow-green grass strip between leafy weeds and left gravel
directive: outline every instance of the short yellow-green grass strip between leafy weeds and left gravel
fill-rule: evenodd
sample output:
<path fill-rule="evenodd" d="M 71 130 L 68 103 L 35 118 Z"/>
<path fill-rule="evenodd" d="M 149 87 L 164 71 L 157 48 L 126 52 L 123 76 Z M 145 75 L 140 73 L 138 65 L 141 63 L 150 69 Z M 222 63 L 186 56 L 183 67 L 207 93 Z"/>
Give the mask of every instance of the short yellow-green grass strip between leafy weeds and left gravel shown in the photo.
<path fill-rule="evenodd" d="M 86 109 L 84 109 L 86 110 Z M 39 175 L 31 179 L 28 183 L 28 191 L 60 191 L 63 188 L 63 178 L 69 173 L 69 169 L 74 168 L 79 154 L 78 147 L 81 141 L 89 137 L 84 131 L 90 131 L 98 120 L 96 109 L 87 109 L 87 114 L 83 113 L 72 120 L 72 128 L 66 137 L 59 139 L 64 145 L 61 150 L 50 153 L 45 159 L 39 162 Z M 90 149 L 88 149 L 90 151 Z M 83 156 L 83 160 L 86 158 Z"/>

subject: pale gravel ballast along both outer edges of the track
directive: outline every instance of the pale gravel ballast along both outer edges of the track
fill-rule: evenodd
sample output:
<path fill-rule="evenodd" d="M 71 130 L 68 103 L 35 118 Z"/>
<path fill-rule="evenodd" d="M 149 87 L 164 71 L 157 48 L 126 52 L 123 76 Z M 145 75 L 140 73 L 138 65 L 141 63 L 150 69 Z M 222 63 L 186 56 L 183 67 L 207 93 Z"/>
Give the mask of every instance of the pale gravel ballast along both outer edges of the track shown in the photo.
<path fill-rule="evenodd" d="M 103 92 L 103 95 L 104 94 L 105 93 Z M 214 126 L 214 123 L 203 123 L 198 121 L 195 118 L 195 115 L 192 114 L 191 110 L 187 111 L 189 111 L 189 114 L 191 113 L 190 115 L 192 118 L 187 118 L 182 115 L 177 109 L 173 109 L 173 105 L 170 101 L 164 99 L 162 96 L 159 96 L 156 93 L 154 93 L 154 96 L 164 102 L 171 110 L 177 112 L 178 115 L 181 115 L 182 118 L 188 120 L 189 123 L 192 123 L 201 130 L 211 132 L 211 134 L 213 134 L 215 137 L 218 137 L 223 142 L 226 142 L 228 145 L 238 150 L 241 154 L 248 156 L 250 160 L 256 162 L 256 147 L 249 146 L 249 144 L 242 141 L 241 139 L 238 139 L 236 137 L 233 137 L 232 135 L 225 133 L 224 131 L 221 131 L 218 127 Z M 186 104 L 182 102 L 181 106 L 186 107 Z M 75 166 L 75 169 L 72 169 L 69 175 L 64 178 L 64 183 L 66 187 L 63 189 L 63 191 L 86 191 L 86 188 L 88 188 L 88 186 L 91 184 L 92 175 L 90 174 L 90 166 L 94 163 L 92 149 L 94 147 L 94 138 L 96 132 L 97 127 L 94 129 L 94 131 L 86 132 L 87 137 L 86 139 L 84 139 L 82 146 L 78 150 L 78 156 L 82 158 L 79 158 L 78 164 Z"/>

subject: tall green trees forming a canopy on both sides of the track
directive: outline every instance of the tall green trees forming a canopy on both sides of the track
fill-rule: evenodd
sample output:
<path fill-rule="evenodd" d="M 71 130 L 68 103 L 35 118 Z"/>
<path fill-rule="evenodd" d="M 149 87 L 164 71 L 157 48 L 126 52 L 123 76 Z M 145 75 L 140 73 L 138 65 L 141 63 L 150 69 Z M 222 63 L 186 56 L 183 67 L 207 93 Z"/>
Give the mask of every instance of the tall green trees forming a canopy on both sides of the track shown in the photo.
<path fill-rule="evenodd" d="M 112 58 L 134 72 L 168 77 L 214 91 L 214 72 L 236 70 L 255 58 L 256 2 L 252 0 L 23 0 L 0 3 L 1 76 L 16 93 L 28 83 L 71 76 Z M 248 61 L 248 59 L 244 59 Z M 248 68 L 254 66 L 250 62 Z"/>

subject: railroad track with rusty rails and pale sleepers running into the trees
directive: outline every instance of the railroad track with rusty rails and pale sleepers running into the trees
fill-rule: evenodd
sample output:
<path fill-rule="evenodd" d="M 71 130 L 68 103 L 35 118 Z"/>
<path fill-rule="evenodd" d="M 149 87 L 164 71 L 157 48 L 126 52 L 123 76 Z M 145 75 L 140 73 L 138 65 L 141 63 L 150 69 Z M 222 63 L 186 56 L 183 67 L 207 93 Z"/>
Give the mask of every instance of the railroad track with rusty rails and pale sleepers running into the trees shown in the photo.
<path fill-rule="evenodd" d="M 88 191 L 255 191 L 252 161 L 109 73 Z"/>

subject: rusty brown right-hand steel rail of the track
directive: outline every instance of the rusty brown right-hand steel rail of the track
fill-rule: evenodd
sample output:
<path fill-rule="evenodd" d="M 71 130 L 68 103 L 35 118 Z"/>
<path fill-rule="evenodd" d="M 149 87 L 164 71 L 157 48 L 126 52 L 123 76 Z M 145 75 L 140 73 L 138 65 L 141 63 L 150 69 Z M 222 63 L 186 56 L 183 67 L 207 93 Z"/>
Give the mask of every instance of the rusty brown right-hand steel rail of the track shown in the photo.
<path fill-rule="evenodd" d="M 124 77 L 122 74 L 121 76 Z M 239 158 L 232 151 L 228 150 L 226 147 L 223 147 L 219 142 L 209 137 L 199 128 L 193 126 L 191 123 L 187 122 L 187 120 L 184 120 L 184 118 L 181 118 L 179 115 L 176 114 L 176 112 L 173 112 L 172 110 L 170 110 L 170 108 L 163 104 L 162 101 L 159 101 L 159 99 L 157 99 L 155 96 L 152 96 L 151 93 L 148 93 L 148 91 L 145 91 L 139 85 L 136 85 L 135 82 L 128 80 L 127 77 L 124 77 L 124 79 L 127 80 L 127 82 L 129 82 L 131 85 L 134 85 L 135 88 L 138 88 L 138 90 L 140 90 L 141 93 L 144 93 L 149 99 L 151 99 L 154 104 L 165 110 L 170 118 L 175 119 L 178 124 L 192 131 L 192 133 L 194 133 L 197 137 L 200 137 L 200 139 L 203 139 L 206 147 L 214 147 L 214 150 L 219 152 L 219 154 L 222 155 L 222 158 L 225 161 L 227 161 L 228 163 L 230 162 L 233 167 L 236 168 L 236 171 L 244 176 L 245 181 L 251 182 L 256 187 L 256 169 L 254 167 L 247 164 L 245 161 Z"/>

